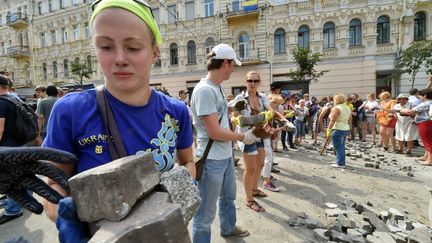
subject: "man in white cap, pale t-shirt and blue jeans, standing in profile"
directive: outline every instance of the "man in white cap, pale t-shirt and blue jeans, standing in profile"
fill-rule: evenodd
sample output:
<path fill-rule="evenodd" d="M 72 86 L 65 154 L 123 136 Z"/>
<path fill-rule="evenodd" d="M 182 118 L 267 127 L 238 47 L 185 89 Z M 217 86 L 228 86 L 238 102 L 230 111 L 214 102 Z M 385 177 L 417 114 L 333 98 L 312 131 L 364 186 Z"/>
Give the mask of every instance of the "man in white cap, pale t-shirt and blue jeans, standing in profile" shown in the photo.
<path fill-rule="evenodd" d="M 233 48 L 219 44 L 212 49 L 208 58 L 208 73 L 195 86 L 191 98 L 193 124 L 198 137 L 198 157 L 203 157 L 209 140 L 213 140 L 198 182 L 201 204 L 192 226 L 195 243 L 211 241 L 211 224 L 216 215 L 218 199 L 220 234 L 224 237 L 249 235 L 247 230 L 236 226 L 236 179 L 231 141 L 252 144 L 259 140 L 252 130 L 245 133 L 230 130 L 228 103 L 221 84 L 230 78 L 235 65 L 241 65 Z"/>

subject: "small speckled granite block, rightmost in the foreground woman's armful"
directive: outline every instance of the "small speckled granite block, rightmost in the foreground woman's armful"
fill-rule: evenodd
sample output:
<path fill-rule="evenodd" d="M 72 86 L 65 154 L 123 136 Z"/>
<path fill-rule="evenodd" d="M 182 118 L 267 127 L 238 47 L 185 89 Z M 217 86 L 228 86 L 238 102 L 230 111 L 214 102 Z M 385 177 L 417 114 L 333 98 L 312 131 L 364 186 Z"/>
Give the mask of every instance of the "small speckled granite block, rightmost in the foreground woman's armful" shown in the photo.
<path fill-rule="evenodd" d="M 198 187 L 193 184 L 189 170 L 184 166 L 178 166 L 161 174 L 160 184 L 165 186 L 171 200 L 180 205 L 180 209 L 186 224 L 195 215 L 201 198 Z"/>

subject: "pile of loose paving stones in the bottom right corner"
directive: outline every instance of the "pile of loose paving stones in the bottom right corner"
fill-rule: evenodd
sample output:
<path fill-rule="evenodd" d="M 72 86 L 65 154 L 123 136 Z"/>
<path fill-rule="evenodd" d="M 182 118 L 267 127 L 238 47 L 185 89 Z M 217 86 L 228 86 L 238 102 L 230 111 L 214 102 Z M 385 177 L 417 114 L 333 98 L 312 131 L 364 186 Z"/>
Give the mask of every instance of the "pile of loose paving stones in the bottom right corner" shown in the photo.
<path fill-rule="evenodd" d="M 325 206 L 326 226 L 305 213 L 291 218 L 288 224 L 313 229 L 317 242 L 432 242 L 432 231 L 428 226 L 409 220 L 397 209 L 377 212 L 372 203 L 357 204 L 352 200 L 345 200 L 340 205 L 326 203 Z"/>

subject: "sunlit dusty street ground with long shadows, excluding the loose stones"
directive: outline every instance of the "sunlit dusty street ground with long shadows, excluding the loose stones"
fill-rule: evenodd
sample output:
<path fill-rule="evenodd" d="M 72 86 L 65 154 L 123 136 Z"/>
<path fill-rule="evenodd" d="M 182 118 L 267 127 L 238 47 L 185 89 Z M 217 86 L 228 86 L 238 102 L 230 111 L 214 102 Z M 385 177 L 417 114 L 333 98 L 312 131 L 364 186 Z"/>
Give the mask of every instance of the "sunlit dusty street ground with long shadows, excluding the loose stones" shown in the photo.
<path fill-rule="evenodd" d="M 419 165 L 416 157 L 407 158 L 404 155 L 381 152 L 373 148 L 363 154 L 384 154 L 385 158 L 391 161 L 387 164 L 391 165 L 382 163 L 379 169 L 366 168 L 362 159 L 354 161 L 348 158 L 348 168 L 341 171 L 329 168 L 329 164 L 335 161 L 332 152 L 319 156 L 319 146 L 307 142 L 299 150 L 275 154 L 275 162 L 279 163 L 277 167 L 281 172 L 274 176 L 281 191 L 266 191 L 269 195 L 267 198 L 257 199 L 267 210 L 263 213 L 256 213 L 245 206 L 243 162 L 240 160 L 236 168 L 237 221 L 238 225 L 250 231 L 250 236 L 242 239 L 220 237 L 216 217 L 212 227 L 212 242 L 314 242 L 312 230 L 304 226 L 291 227 L 287 223 L 288 220 L 305 212 L 309 217 L 326 224 L 324 203 L 340 203 L 345 199 L 352 199 L 357 203 L 368 201 L 378 211 L 393 207 L 405 212 L 410 220 L 429 225 L 430 194 L 425 185 L 432 186 L 432 167 Z M 420 151 L 422 148 L 417 148 L 416 155 L 420 155 Z M 240 156 L 238 151 L 236 154 Z M 414 177 L 400 171 L 402 166 L 407 165 L 412 166 Z M 0 242 L 17 236 L 24 236 L 35 243 L 58 242 L 55 225 L 44 215 L 29 212 L 25 212 L 23 217 L 0 225 L 0 232 Z"/>

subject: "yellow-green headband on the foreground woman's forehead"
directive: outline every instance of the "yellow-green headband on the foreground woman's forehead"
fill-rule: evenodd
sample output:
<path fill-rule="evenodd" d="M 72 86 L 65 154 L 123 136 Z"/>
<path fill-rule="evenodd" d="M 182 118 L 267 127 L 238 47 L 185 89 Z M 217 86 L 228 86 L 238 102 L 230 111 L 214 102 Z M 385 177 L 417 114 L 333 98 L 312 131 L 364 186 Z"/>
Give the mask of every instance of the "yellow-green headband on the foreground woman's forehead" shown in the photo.
<path fill-rule="evenodd" d="M 161 46 L 162 45 L 162 36 L 159 31 L 159 27 L 156 23 L 156 20 L 153 18 L 151 11 L 147 7 L 143 7 L 141 4 L 132 1 L 132 0 L 103 0 L 100 1 L 96 5 L 95 10 L 92 13 L 92 16 L 90 18 L 90 26 L 93 26 L 93 21 L 102 10 L 106 8 L 122 8 L 125 9 L 136 16 L 138 16 L 140 19 L 144 21 L 144 23 L 147 24 L 153 35 L 156 39 L 156 45 Z"/>

